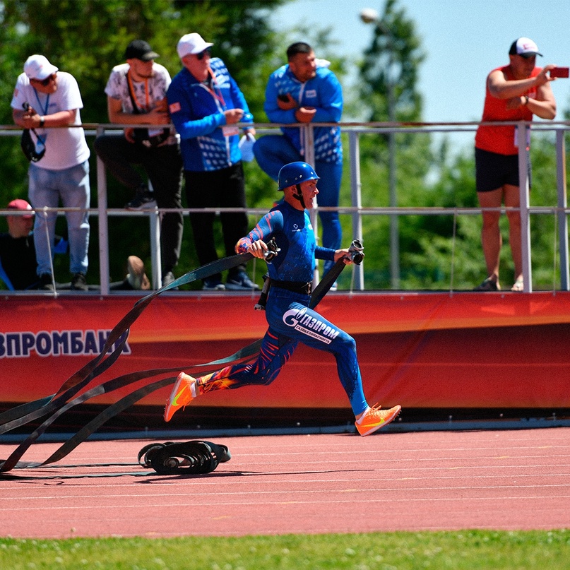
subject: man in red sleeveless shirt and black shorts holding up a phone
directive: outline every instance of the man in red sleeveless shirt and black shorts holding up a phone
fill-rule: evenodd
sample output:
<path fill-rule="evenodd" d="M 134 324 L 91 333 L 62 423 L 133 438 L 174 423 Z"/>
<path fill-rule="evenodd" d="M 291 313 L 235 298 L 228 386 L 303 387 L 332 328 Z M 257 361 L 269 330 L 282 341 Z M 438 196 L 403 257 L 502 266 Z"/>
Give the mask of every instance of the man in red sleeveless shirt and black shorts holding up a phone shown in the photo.
<path fill-rule="evenodd" d="M 482 122 L 486 121 L 532 121 L 554 119 L 556 101 L 550 88 L 549 71 L 554 65 L 544 68 L 535 66 L 536 57 L 542 54 L 528 37 L 519 37 L 509 49 L 509 65 L 498 67 L 487 76 L 485 106 Z M 530 173 L 530 162 L 529 162 Z M 498 291 L 499 256 L 502 237 L 499 229 L 501 204 L 509 209 L 509 243 L 514 263 L 514 285 L 511 291 L 523 291 L 523 256 L 521 248 L 521 215 L 518 210 L 518 147 L 514 125 L 479 126 L 475 135 L 475 181 L 477 198 L 483 211 L 481 241 L 487 278 L 475 291 Z"/>

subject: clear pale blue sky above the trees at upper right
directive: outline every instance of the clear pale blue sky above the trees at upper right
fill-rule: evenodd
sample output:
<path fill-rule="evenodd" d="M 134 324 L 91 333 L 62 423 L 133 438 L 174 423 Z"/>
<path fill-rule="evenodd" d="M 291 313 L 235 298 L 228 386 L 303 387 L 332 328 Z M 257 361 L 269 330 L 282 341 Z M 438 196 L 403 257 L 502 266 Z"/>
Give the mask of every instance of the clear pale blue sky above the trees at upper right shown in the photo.
<path fill-rule="evenodd" d="M 372 40 L 362 8 L 384 11 L 384 0 L 293 0 L 273 12 L 278 29 L 333 28 L 338 52 L 352 61 Z M 415 21 L 427 58 L 420 71 L 424 120 L 478 121 L 489 71 L 509 63 L 517 37 L 530 37 L 544 57 L 538 64 L 570 65 L 569 0 L 398 0 Z M 292 37 L 291 41 L 302 40 Z M 317 54 L 318 55 L 318 54 Z M 570 79 L 552 83 L 558 116 L 570 107 Z"/>

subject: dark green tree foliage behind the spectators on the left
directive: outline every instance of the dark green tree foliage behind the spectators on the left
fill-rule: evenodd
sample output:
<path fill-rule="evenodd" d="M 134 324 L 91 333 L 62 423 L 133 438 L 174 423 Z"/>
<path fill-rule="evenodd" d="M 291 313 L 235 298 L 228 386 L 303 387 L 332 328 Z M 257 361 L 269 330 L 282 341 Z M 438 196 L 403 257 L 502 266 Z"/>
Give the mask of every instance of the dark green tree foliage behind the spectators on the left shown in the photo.
<path fill-rule="evenodd" d="M 76 77 L 84 108 L 83 123 L 107 123 L 107 97 L 104 89 L 113 66 L 124 61 L 124 49 L 133 39 L 147 40 L 160 54 L 158 62 L 172 76 L 180 69 L 176 52 L 179 37 L 198 31 L 214 42 L 215 55 L 222 57 L 232 76 L 246 95 L 256 120 L 263 120 L 263 95 L 269 62 L 284 59 L 283 38 L 268 23 L 272 8 L 287 0 L 209 1 L 209 0 L 11 0 L 0 11 L 0 93 L 6 102 L 0 108 L 0 122 L 11 125 L 11 100 L 16 78 L 23 71 L 25 59 L 34 53 L 44 54 L 62 71 Z M 273 71 L 273 69 L 271 69 Z M 28 163 L 17 139 L 0 138 L 0 161 L 4 184 L 0 203 L 28 194 Z M 88 138 L 90 146 L 93 137 Z M 91 206 L 97 205 L 95 156 L 92 152 Z M 249 165 L 248 165 L 249 166 Z M 248 186 L 254 202 L 273 191 L 259 169 L 248 168 Z M 121 208 L 129 200 L 129 191 L 107 177 L 110 208 Z M 255 189 L 255 190 L 253 190 Z M 263 191 L 264 189 L 264 191 Z M 248 188 L 249 190 L 249 188 Z M 250 205 L 255 205 L 250 201 Z M 97 219 L 92 216 L 90 240 L 90 277 L 97 280 Z M 57 231 L 65 234 L 64 220 Z M 148 261 L 148 225 L 133 218 L 113 218 L 109 222 L 111 273 L 120 278 L 124 260 L 138 254 Z M 221 243 L 221 240 L 220 240 Z M 185 224 L 180 271 L 196 266 L 194 244 L 189 223 Z M 66 262 L 57 261 L 56 271 L 67 274 Z"/>

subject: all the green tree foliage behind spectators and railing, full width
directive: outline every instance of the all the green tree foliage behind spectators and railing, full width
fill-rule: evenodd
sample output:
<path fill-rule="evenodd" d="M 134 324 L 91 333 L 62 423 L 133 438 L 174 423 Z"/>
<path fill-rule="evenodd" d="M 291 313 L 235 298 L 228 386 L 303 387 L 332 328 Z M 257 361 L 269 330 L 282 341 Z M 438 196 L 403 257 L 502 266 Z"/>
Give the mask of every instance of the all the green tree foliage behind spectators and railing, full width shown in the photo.
<path fill-rule="evenodd" d="M 124 49 L 135 38 L 148 40 L 160 54 L 158 60 L 174 75 L 180 69 L 176 53 L 179 37 L 198 31 L 214 42 L 215 55 L 222 57 L 232 76 L 244 91 L 257 122 L 266 122 L 263 98 L 271 72 L 285 63 L 285 49 L 303 40 L 315 49 L 317 57 L 329 59 L 341 83 L 345 61 L 333 49 L 330 30 L 298 28 L 285 33 L 271 28 L 272 8 L 287 0 L 9 0 L 0 4 L 0 107 L 1 124 L 12 124 L 11 100 L 16 78 L 23 62 L 33 53 L 45 54 L 62 71 L 78 79 L 83 97 L 84 123 L 106 123 L 107 101 L 104 93 L 112 66 L 124 61 Z M 422 94 L 417 83 L 424 51 L 415 23 L 398 4 L 387 0 L 384 13 L 374 24 L 374 37 L 363 54 L 357 93 L 360 118 L 365 121 L 405 123 L 422 121 Z M 347 93 L 345 100 L 354 93 Z M 483 97 L 483 93 L 481 97 Z M 352 97 L 355 98 L 355 97 Z M 569 111 L 560 116 L 570 117 Z M 362 205 L 389 205 L 389 148 L 386 133 L 360 134 Z M 28 163 L 15 137 L 0 137 L 3 182 L 0 203 L 28 194 Z M 345 157 L 348 135 L 343 134 Z M 398 206 L 413 208 L 476 208 L 475 164 L 472 147 L 452 154 L 444 138 L 437 148 L 428 133 L 413 129 L 396 133 L 396 194 Z M 90 146 L 93 136 L 88 138 Z M 556 205 L 556 165 L 554 142 L 535 133 L 531 147 L 534 206 Z M 248 205 L 268 208 L 275 199 L 274 183 L 255 162 L 244 165 Z M 95 157 L 92 153 L 92 200 L 97 205 Z M 350 166 L 345 158 L 341 206 L 350 205 Z M 107 177 L 110 208 L 122 208 L 129 191 Z M 183 194 L 183 203 L 184 194 Z M 257 216 L 251 217 L 251 223 Z M 501 229 L 506 237 L 506 217 Z M 141 218 L 111 218 L 109 243 L 112 245 L 111 274 L 122 278 L 124 260 L 129 254 L 150 259 L 148 225 Z M 403 289 L 470 289 L 482 279 L 485 263 L 480 246 L 480 215 L 451 212 L 449 215 L 400 216 L 400 286 Z M 352 235 L 352 218 L 341 215 L 344 242 Z M 90 220 L 90 280 L 97 281 L 97 218 Z M 219 229 L 218 229 L 219 231 Z M 57 232 L 65 234 L 64 220 Z M 554 269 L 557 225 L 554 215 L 533 215 L 531 222 L 533 277 L 535 288 L 551 288 L 558 282 Z M 391 286 L 389 275 L 389 218 L 364 216 L 363 234 L 367 257 L 364 263 L 368 289 Z M 501 252 L 504 279 L 512 267 L 508 240 Z M 222 243 L 222 239 L 218 239 Z M 220 251 L 220 255 L 222 251 Z M 182 258 L 178 273 L 198 264 L 185 222 Z M 66 262 L 59 261 L 57 273 L 67 275 Z M 347 285 L 350 272 L 341 275 Z"/>

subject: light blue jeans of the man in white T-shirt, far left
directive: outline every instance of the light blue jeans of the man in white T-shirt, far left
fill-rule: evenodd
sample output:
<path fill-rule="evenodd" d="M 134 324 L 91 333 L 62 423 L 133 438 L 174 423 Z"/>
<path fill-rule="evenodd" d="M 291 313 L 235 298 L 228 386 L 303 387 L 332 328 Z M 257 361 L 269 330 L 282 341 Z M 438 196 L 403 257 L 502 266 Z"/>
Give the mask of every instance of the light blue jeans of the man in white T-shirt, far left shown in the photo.
<path fill-rule="evenodd" d="M 81 208 L 66 212 L 69 234 L 69 268 L 72 274 L 87 273 L 89 247 L 89 162 L 64 170 L 47 170 L 30 165 L 28 194 L 35 209 L 34 244 L 37 275 L 52 273 L 56 212 L 42 208 L 57 208 L 59 198 L 64 208 Z M 47 227 L 47 232 L 46 232 Z M 46 234 L 47 233 L 47 234 Z"/>

